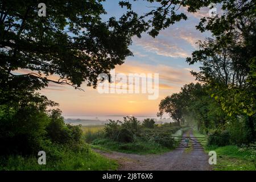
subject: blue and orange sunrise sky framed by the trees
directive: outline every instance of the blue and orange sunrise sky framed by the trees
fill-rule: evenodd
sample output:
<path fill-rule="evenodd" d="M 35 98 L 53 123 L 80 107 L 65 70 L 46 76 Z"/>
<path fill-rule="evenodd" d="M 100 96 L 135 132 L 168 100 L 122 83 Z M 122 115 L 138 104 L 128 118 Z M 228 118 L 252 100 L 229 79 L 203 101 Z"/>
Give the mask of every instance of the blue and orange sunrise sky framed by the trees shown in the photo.
<path fill-rule="evenodd" d="M 118 6 L 118 1 L 104 2 L 107 15 L 119 17 L 123 11 Z M 149 5 L 153 6 L 153 5 Z M 150 10 L 148 4 L 139 1 L 133 6 L 138 13 Z M 48 88 L 40 92 L 50 100 L 59 103 L 59 108 L 64 116 L 68 115 L 156 115 L 160 101 L 180 91 L 184 84 L 196 82 L 190 71 L 198 71 L 199 64 L 188 65 L 185 59 L 197 49 L 196 42 L 204 40 L 210 35 L 202 34 L 195 26 L 200 18 L 208 16 L 208 8 L 201 9 L 198 13 L 186 13 L 188 20 L 181 20 L 174 25 L 160 31 L 154 39 L 143 34 L 141 39 L 133 38 L 130 50 L 134 56 L 126 58 L 125 64 L 115 68 L 116 73 L 159 73 L 159 97 L 148 100 L 148 94 L 100 94 L 97 89 L 81 86 L 84 92 L 71 86 L 49 84 Z"/>

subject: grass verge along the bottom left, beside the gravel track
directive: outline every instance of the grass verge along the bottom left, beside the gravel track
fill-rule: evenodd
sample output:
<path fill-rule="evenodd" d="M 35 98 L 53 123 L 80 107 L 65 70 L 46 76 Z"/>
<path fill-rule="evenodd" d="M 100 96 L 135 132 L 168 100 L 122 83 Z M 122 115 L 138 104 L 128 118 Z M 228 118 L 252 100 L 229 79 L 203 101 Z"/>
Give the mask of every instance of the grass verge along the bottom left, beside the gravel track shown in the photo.
<path fill-rule="evenodd" d="M 46 158 L 46 165 L 38 164 L 38 156 L 9 156 L 0 159 L 0 170 L 116 170 L 118 165 L 114 160 L 107 159 L 91 150 L 60 152 L 59 159 Z"/>

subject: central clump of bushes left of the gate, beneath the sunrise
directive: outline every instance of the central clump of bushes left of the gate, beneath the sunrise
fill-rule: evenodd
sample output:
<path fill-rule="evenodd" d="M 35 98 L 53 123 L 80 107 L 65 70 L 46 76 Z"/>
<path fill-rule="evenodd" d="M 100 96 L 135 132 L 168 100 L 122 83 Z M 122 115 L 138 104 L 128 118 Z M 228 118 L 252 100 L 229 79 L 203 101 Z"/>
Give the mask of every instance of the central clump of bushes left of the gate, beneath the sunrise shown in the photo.
<path fill-rule="evenodd" d="M 174 148 L 175 140 L 172 138 L 172 134 L 179 130 L 180 127 L 170 127 L 170 123 L 167 123 L 169 127 L 154 126 L 154 123 L 153 119 L 144 119 L 142 125 L 140 125 L 137 118 L 134 117 L 125 117 L 123 122 L 110 120 L 104 128 L 107 140 L 98 137 L 92 141 L 92 144 L 103 145 L 114 150 L 129 150 L 130 148 L 131 151 L 139 150 L 133 148 L 138 143 L 143 143 L 142 146 L 138 147 L 150 147 L 150 145 L 146 144 L 148 142 L 154 144 L 151 146 L 152 148 L 155 148 L 156 146 L 160 146 L 162 149 L 165 148 L 165 150 L 167 150 L 167 148 Z M 154 129 L 152 129 L 152 126 L 154 126 Z M 90 136 L 90 138 L 92 137 Z M 116 143 L 112 143 L 110 140 Z M 110 146 L 110 144 L 116 146 L 117 143 L 119 147 L 113 148 Z"/>

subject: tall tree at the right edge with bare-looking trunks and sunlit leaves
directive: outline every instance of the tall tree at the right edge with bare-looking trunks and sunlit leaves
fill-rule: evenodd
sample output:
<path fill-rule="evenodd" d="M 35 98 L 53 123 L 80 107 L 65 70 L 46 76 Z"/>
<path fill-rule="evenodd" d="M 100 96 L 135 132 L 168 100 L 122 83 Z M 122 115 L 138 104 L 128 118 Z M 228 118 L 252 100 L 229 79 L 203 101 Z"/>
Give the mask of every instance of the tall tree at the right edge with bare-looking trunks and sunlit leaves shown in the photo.
<path fill-rule="evenodd" d="M 255 2 L 237 1 L 221 17 L 209 18 L 201 31 L 210 31 L 213 39 L 200 44 L 200 49 L 187 59 L 200 62 L 196 79 L 209 86 L 211 96 L 221 104 L 229 117 L 244 117 L 251 140 L 256 136 L 255 85 Z"/>

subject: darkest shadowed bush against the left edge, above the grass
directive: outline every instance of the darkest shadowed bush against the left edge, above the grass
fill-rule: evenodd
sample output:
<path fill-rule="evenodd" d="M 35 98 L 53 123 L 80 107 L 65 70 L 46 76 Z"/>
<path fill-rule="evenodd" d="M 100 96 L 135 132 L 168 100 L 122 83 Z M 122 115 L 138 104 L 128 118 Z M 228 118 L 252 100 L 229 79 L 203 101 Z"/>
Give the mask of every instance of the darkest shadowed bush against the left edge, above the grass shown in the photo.
<path fill-rule="evenodd" d="M 30 155 L 38 151 L 46 135 L 49 118 L 34 104 L 0 106 L 0 155 Z"/>

